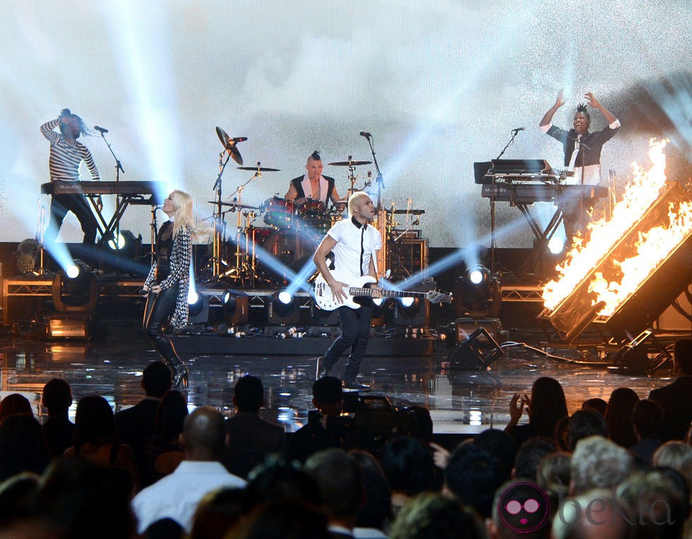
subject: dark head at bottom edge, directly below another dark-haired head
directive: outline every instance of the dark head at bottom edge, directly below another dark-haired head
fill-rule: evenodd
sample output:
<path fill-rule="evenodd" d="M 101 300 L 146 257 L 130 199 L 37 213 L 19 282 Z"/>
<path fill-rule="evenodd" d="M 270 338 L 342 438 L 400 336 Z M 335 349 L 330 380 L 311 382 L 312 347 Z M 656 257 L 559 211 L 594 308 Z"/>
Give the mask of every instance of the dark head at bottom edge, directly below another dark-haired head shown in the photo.
<path fill-rule="evenodd" d="M 226 535 L 234 539 L 330 539 L 327 519 L 304 502 L 278 499 L 262 504 Z"/>

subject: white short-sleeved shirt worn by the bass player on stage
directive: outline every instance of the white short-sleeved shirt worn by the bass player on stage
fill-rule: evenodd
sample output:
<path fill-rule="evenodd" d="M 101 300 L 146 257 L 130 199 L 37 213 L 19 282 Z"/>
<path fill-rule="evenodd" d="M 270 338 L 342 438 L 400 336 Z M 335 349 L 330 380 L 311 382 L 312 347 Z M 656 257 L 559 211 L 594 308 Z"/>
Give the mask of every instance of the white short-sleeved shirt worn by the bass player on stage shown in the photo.
<path fill-rule="evenodd" d="M 364 225 L 365 226 L 365 225 Z M 376 251 L 382 249 L 382 236 L 374 226 L 362 227 L 353 224 L 352 218 L 340 220 L 330 228 L 327 234 L 336 240 L 332 250 L 334 253 L 334 268 L 345 278 L 369 275 L 370 260 Z M 361 238 L 363 247 L 363 263 L 361 260 Z"/>

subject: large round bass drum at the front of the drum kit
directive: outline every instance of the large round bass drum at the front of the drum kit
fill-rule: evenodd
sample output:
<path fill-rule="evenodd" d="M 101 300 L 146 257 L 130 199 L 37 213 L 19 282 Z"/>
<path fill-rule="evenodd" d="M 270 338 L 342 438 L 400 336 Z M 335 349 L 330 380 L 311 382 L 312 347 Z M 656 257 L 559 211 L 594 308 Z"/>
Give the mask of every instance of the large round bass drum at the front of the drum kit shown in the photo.
<path fill-rule="evenodd" d="M 271 259 L 261 258 L 260 265 L 267 276 L 276 283 L 290 280 L 287 269 L 296 273 L 314 254 L 314 247 L 295 230 L 273 230 L 261 244 Z"/>

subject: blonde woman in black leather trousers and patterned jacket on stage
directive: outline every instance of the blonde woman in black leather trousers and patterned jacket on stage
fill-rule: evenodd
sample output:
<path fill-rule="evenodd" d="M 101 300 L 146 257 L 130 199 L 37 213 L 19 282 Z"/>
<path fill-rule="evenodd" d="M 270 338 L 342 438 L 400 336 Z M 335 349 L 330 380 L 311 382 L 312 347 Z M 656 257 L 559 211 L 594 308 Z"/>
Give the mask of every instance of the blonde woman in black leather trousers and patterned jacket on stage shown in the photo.
<path fill-rule="evenodd" d="M 156 259 L 144 281 L 148 296 L 143 329 L 171 369 L 173 387 L 178 388 L 188 384 L 189 371 L 163 332 L 163 325 L 169 321 L 174 328 L 182 328 L 188 323 L 192 239 L 205 229 L 194 224 L 192 197 L 185 191 L 172 191 L 162 209 L 169 220 L 156 235 Z"/>

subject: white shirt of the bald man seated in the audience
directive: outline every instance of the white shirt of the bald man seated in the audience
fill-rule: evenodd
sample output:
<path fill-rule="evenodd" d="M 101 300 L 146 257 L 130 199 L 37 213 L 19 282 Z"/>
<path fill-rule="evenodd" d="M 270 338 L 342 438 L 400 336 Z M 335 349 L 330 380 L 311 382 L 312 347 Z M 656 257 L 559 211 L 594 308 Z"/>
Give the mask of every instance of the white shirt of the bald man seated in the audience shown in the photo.
<path fill-rule="evenodd" d="M 221 487 L 244 488 L 245 485 L 244 479 L 228 473 L 220 462 L 182 461 L 172 474 L 133 498 L 137 532 L 144 533 L 155 521 L 168 518 L 190 533 L 192 517 L 205 494 Z"/>

